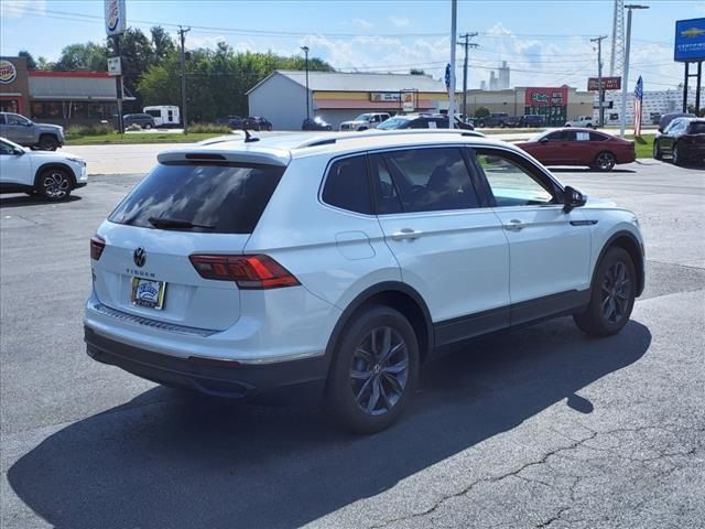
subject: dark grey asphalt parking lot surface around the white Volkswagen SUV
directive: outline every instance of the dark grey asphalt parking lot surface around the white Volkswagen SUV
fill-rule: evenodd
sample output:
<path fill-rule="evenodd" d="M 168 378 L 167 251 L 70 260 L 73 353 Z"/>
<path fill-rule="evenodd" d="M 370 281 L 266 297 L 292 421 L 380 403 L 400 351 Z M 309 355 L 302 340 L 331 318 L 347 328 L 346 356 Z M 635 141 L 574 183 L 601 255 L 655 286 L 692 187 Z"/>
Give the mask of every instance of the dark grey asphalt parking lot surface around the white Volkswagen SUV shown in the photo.
<path fill-rule="evenodd" d="M 427 366 L 355 438 L 312 408 L 212 400 L 90 360 L 88 239 L 137 175 L 63 204 L 0 197 L 3 528 L 705 527 L 705 171 L 556 171 L 633 209 L 632 321 L 561 319 Z"/>

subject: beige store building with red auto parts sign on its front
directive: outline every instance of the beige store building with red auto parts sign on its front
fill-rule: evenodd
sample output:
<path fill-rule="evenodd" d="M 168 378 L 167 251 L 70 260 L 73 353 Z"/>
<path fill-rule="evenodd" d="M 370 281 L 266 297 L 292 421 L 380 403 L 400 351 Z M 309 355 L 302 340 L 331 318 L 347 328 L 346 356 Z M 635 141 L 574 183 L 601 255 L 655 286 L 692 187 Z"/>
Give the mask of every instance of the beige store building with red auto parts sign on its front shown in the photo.
<path fill-rule="evenodd" d="M 570 86 L 516 87 L 508 90 L 468 90 L 467 116 L 475 116 L 478 108 L 509 116 L 538 114 L 545 116 L 549 126 L 562 126 L 575 116 L 593 114 L 595 95 L 578 91 Z"/>

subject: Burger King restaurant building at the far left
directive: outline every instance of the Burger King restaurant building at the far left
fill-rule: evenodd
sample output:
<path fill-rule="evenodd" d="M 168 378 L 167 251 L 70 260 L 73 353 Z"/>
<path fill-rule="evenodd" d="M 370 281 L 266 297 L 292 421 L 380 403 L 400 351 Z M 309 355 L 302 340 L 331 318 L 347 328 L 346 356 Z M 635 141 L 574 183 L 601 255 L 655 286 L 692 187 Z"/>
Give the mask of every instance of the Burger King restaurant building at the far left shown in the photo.
<path fill-rule="evenodd" d="M 1 57 L 0 110 L 62 126 L 109 120 L 116 82 L 102 72 L 28 71 L 24 57 Z"/>

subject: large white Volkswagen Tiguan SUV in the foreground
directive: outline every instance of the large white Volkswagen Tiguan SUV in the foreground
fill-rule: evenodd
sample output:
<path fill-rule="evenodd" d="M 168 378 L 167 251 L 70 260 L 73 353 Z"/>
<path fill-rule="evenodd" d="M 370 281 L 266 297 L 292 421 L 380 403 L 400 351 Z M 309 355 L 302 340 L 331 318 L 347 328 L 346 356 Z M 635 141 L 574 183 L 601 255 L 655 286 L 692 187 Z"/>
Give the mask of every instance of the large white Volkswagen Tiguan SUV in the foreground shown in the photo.
<path fill-rule="evenodd" d="M 96 360 L 235 398 L 314 387 L 357 432 L 441 346 L 567 314 L 611 335 L 644 284 L 632 213 L 449 130 L 161 153 L 90 253 Z"/>

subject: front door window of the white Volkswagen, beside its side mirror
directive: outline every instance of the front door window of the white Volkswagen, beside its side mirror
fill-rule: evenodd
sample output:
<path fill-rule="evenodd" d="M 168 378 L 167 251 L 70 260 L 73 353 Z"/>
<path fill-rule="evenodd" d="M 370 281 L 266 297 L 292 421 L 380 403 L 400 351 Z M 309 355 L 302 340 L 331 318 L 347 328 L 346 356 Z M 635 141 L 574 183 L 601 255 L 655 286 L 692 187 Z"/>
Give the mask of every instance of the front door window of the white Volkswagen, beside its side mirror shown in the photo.
<path fill-rule="evenodd" d="M 545 184 L 511 154 L 491 149 L 475 152 L 498 207 L 555 203 Z"/>

